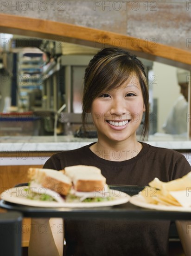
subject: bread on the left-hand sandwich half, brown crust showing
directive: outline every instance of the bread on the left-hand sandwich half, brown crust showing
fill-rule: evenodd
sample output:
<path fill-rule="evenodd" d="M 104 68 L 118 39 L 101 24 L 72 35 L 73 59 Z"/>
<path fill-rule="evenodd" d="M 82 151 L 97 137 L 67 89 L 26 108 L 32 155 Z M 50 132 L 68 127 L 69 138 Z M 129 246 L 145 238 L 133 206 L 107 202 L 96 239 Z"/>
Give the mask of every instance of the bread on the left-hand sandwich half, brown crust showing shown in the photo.
<path fill-rule="evenodd" d="M 29 168 L 28 177 L 46 189 L 51 189 L 60 195 L 67 195 L 72 186 L 70 177 L 52 169 Z"/>

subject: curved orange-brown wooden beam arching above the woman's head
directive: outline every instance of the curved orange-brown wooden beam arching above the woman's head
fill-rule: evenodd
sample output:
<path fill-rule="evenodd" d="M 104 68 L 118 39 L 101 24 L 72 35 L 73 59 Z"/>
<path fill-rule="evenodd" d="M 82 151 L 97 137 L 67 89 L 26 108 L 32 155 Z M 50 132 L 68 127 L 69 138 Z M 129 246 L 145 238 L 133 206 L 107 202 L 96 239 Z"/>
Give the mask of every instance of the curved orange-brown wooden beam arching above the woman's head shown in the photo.
<path fill-rule="evenodd" d="M 91 47 L 117 46 L 139 57 L 190 69 L 191 52 L 123 34 L 51 20 L 0 14 L 1 33 L 59 40 Z"/>

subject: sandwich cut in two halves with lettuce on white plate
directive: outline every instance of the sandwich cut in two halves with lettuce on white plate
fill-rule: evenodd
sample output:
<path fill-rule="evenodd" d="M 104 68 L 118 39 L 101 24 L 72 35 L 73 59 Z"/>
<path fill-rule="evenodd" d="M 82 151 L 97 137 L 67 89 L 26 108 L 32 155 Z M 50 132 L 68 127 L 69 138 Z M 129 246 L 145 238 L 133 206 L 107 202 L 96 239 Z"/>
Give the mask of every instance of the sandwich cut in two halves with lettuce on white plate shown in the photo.
<path fill-rule="evenodd" d="M 95 166 L 76 165 L 65 167 L 60 171 L 29 168 L 28 177 L 29 199 L 62 202 L 112 200 L 106 178 Z"/>

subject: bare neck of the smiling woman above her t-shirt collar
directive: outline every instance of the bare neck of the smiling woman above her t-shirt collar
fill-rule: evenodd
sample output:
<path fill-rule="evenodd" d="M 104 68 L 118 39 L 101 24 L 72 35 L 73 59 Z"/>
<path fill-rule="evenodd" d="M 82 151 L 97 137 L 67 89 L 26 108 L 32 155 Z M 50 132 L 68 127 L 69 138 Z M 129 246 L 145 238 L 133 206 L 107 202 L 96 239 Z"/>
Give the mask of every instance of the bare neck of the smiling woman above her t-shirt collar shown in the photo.
<path fill-rule="evenodd" d="M 142 144 L 138 141 L 131 142 L 105 142 L 98 141 L 90 147 L 97 156 L 110 161 L 121 162 L 131 159 L 139 154 Z"/>

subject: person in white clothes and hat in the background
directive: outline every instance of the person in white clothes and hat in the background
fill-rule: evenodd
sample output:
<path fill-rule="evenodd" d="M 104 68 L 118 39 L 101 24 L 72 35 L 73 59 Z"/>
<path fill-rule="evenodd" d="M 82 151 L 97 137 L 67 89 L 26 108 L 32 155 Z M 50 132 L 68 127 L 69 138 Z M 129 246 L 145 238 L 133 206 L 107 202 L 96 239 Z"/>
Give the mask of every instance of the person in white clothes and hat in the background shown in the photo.
<path fill-rule="evenodd" d="M 163 129 L 167 134 L 187 135 L 187 113 L 188 113 L 188 81 L 190 72 L 181 68 L 177 70 L 180 95 L 170 111 Z"/>

